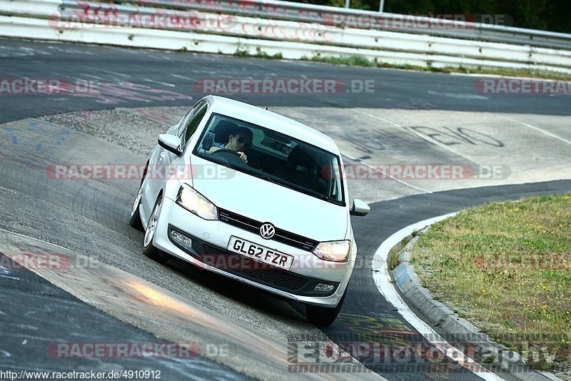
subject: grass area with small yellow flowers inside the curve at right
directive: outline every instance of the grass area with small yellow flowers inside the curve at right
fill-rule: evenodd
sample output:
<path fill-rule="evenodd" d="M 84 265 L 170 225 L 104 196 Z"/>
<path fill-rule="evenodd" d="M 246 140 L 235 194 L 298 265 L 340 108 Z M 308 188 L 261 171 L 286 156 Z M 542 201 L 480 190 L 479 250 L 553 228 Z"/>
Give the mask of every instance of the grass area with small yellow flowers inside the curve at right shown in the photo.
<path fill-rule="evenodd" d="M 530 366 L 571 368 L 571 195 L 468 209 L 420 235 L 411 262 L 435 298 Z"/>

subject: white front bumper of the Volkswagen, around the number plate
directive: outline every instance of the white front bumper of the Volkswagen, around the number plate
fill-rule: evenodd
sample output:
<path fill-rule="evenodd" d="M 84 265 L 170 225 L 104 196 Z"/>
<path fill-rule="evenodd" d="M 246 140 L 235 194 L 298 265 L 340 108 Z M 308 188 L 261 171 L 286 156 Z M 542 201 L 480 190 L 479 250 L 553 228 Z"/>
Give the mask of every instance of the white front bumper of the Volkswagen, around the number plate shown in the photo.
<path fill-rule="evenodd" d="M 191 245 L 173 238 L 186 236 Z M 231 235 L 294 256 L 290 270 L 273 268 L 251 258 L 226 250 Z M 252 285 L 282 298 L 302 303 L 335 308 L 345 293 L 353 262 L 331 263 L 303 250 L 228 225 L 220 220 L 203 220 L 188 212 L 170 198 L 163 200 L 153 245 L 189 263 Z M 238 264 L 238 265 L 237 265 Z M 334 285 L 333 290 L 318 291 L 318 283 Z"/>

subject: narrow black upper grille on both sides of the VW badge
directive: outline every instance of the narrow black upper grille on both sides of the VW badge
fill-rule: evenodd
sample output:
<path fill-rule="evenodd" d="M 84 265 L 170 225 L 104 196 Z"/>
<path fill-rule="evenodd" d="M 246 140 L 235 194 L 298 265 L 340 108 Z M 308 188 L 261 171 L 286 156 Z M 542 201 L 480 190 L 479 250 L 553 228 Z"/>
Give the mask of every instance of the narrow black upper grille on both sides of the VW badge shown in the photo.
<path fill-rule="evenodd" d="M 251 231 L 252 233 L 259 234 L 260 227 L 263 223 L 251 218 L 233 213 L 229 210 L 218 209 L 218 217 L 223 223 L 228 223 L 234 225 L 238 228 Z M 285 245 L 293 246 L 306 251 L 313 251 L 315 246 L 318 244 L 316 240 L 310 240 L 302 235 L 290 233 L 287 230 L 283 230 L 276 227 L 276 234 L 273 235 L 272 240 L 277 240 L 278 242 L 285 243 Z"/>

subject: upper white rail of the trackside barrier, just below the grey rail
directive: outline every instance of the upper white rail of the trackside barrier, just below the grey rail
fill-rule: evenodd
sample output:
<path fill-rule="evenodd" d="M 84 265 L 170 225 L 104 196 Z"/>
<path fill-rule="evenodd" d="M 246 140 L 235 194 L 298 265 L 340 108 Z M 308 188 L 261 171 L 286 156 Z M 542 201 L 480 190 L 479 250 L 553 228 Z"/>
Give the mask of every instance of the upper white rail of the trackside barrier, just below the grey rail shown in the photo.
<path fill-rule="evenodd" d="M 60 14 L 64 21 L 81 20 L 100 26 L 111 24 L 145 28 L 194 31 L 202 34 L 240 36 L 248 39 L 271 39 L 295 41 L 310 44 L 367 49 L 372 51 L 393 51 L 398 54 L 426 56 L 427 61 L 440 57 L 458 57 L 472 65 L 474 60 L 517 64 L 535 64 L 571 67 L 571 52 L 557 54 L 558 59 L 531 52 L 529 46 L 515 44 L 492 44 L 481 41 L 467 41 L 445 37 L 418 34 L 394 33 L 388 31 L 336 28 L 315 23 L 259 19 L 246 16 L 213 14 L 199 11 L 174 11 L 146 6 L 124 6 L 94 2 L 61 0 Z M 65 26 L 64 22 L 64 26 Z M 133 25 L 135 24 L 135 25 Z M 555 56 L 555 51 L 550 51 Z M 362 51 L 360 55 L 367 55 Z M 375 54 L 369 54 L 375 59 Z M 450 58 L 449 58 L 450 59 Z M 407 63 L 405 59 L 401 61 Z"/>

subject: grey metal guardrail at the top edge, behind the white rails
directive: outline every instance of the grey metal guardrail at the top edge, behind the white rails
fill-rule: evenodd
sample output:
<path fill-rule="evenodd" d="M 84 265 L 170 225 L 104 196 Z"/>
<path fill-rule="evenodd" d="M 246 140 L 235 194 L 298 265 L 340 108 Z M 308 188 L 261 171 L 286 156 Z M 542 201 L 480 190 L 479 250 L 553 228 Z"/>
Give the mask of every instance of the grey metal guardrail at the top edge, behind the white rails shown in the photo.
<path fill-rule="evenodd" d="M 112 2 L 112 1 L 104 1 Z M 334 6 L 319 6 L 314 4 L 294 3 L 279 0 L 121 0 L 122 4 L 140 6 L 160 6 L 168 9 L 208 11 L 223 14 L 236 14 L 261 19 L 288 21 L 303 21 L 323 25 L 338 24 L 337 21 L 363 20 L 364 24 L 374 24 L 371 28 L 383 31 L 399 31 L 413 34 L 428 34 L 454 39 L 469 39 L 475 41 L 500 42 L 537 46 L 550 49 L 571 49 L 571 34 L 550 31 L 514 28 L 492 24 L 434 19 L 423 16 L 406 16 L 388 14 L 358 9 L 337 8 Z M 420 27 L 409 27 L 406 21 L 413 21 Z M 369 22 L 368 22 L 368 21 Z M 400 26 L 400 22 L 402 26 Z M 347 24 L 347 23 L 345 23 Z M 423 28 L 427 24 L 429 27 Z M 350 25 L 348 23 L 347 25 Z M 363 27 L 360 27 L 363 29 Z"/>

